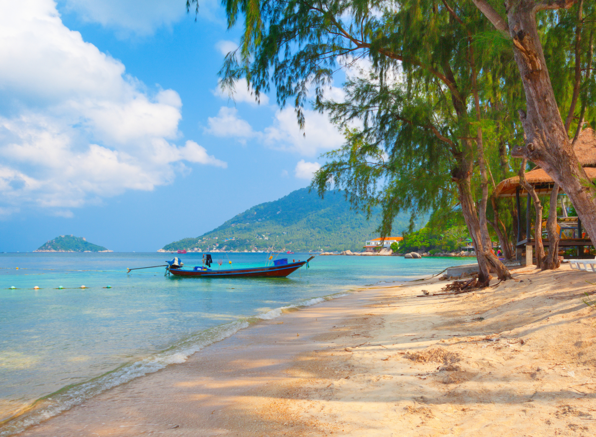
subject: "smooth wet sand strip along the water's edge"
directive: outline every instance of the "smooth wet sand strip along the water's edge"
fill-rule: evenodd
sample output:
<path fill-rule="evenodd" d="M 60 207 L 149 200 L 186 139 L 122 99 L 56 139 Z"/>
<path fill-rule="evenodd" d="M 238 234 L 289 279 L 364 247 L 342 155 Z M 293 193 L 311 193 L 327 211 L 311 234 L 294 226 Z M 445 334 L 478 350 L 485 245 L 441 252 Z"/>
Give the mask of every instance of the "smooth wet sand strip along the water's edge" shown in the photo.
<path fill-rule="evenodd" d="M 121 404 L 122 401 L 128 399 L 130 396 L 128 393 L 131 390 L 134 392 L 136 390 L 140 390 L 141 392 L 157 390 L 160 392 L 166 389 L 167 395 L 176 396 L 174 394 L 176 391 L 175 388 L 167 382 L 172 376 L 184 380 L 183 385 L 205 385 L 206 392 L 209 395 L 201 393 L 202 396 L 209 396 L 211 399 L 215 396 L 222 405 L 231 405 L 228 398 L 234 398 L 234 392 L 259 388 L 262 385 L 266 385 L 266 382 L 269 382 L 269 377 L 271 377 L 271 380 L 279 379 L 278 374 L 283 373 L 284 370 L 291 366 L 293 358 L 300 352 L 309 351 L 315 342 L 319 344 L 317 340 L 312 339 L 319 336 L 321 331 L 326 331 L 340 323 L 346 311 L 358 314 L 361 308 L 361 304 L 358 303 L 361 293 L 361 291 L 355 291 L 347 296 L 316 303 L 299 311 L 287 312 L 283 314 L 283 317 L 261 320 L 247 328 L 236 331 L 223 340 L 212 343 L 208 348 L 203 348 L 195 352 L 185 362 L 167 366 L 162 370 L 145 374 L 143 377 L 137 377 L 129 382 L 105 390 L 103 393 L 87 399 L 82 404 L 75 405 L 70 410 L 52 416 L 48 420 L 30 426 L 23 432 L 14 435 L 54 436 L 57 433 L 57 429 L 60 429 L 60 435 L 63 436 L 80 435 L 76 429 L 81 428 L 82 424 L 79 420 L 72 421 L 69 418 L 79 417 L 79 414 L 82 414 L 87 421 L 89 420 L 89 411 L 96 408 L 99 409 L 97 417 L 109 414 L 107 411 L 119 416 L 122 411 L 118 407 L 116 408 L 118 411 L 114 410 L 113 407 L 115 405 L 113 404 L 114 402 Z M 348 301 L 350 300 L 356 301 L 356 303 L 349 303 Z M 340 301 L 341 303 L 339 303 Z M 322 342 L 321 344 L 329 346 L 327 342 Z M 266 351 L 266 358 L 263 358 L 263 351 Z M 247 361 L 254 360 L 261 362 L 263 359 L 267 362 L 263 363 L 262 370 L 256 372 L 252 365 L 249 365 L 249 368 L 244 367 Z M 248 377 L 243 378 L 245 374 Z M 273 376 L 273 374 L 277 374 L 277 376 Z M 209 386 L 214 381 L 217 381 L 216 385 Z M 207 383 L 201 384 L 201 382 Z M 220 390 L 219 386 L 224 386 L 225 389 Z M 172 390 L 174 393 L 172 393 Z M 196 394 L 193 393 L 193 395 Z M 164 395 L 166 393 L 155 393 L 150 398 Z M 135 400 L 132 404 L 138 402 L 145 403 L 144 400 Z M 194 407 L 194 415 L 196 416 L 198 414 L 202 418 L 201 420 L 209 421 L 209 419 L 212 419 L 209 417 L 212 413 L 212 410 L 209 410 L 211 406 L 212 403 L 209 404 L 208 408 Z M 157 411 L 162 410 L 162 407 L 160 405 L 156 410 L 147 412 L 147 417 L 154 417 Z M 128 414 L 130 412 L 128 408 L 136 407 L 126 405 L 126 407 L 120 408 L 127 409 Z M 205 410 L 205 408 L 209 411 Z M 198 410 L 198 413 L 196 410 Z M 178 415 L 175 416 L 178 417 Z M 153 420 L 151 422 L 150 420 L 151 423 L 155 421 Z M 126 426 L 129 425 L 124 425 L 123 427 Z M 70 429 L 67 430 L 65 427 Z M 195 428 L 193 433 L 196 434 L 193 435 L 211 435 L 210 432 L 212 431 L 209 429 Z M 98 433 L 101 435 L 106 434 L 105 430 Z M 111 429 L 108 433 L 112 433 L 113 435 L 128 435 L 122 433 L 120 426 Z"/>

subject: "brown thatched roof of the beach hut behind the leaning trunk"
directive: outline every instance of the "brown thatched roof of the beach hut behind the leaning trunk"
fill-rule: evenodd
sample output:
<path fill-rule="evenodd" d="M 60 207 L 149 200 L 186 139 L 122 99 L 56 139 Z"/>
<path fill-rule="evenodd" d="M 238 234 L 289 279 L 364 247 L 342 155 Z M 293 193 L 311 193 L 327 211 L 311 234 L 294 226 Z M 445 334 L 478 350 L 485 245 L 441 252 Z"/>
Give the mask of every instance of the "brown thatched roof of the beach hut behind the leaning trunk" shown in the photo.
<path fill-rule="evenodd" d="M 584 129 L 578 137 L 578 141 L 573 146 L 575 154 L 582 167 L 586 171 L 588 178 L 596 179 L 596 132 L 594 129 Z M 536 193 L 548 194 L 552 190 L 554 181 L 541 168 L 536 168 L 526 172 L 526 180 L 534 186 Z M 517 188 L 522 188 L 519 183 L 519 176 L 512 176 L 499 182 L 495 188 L 495 195 L 498 197 L 510 197 L 516 195 Z M 520 196 L 526 196 L 526 190 L 520 191 Z"/>

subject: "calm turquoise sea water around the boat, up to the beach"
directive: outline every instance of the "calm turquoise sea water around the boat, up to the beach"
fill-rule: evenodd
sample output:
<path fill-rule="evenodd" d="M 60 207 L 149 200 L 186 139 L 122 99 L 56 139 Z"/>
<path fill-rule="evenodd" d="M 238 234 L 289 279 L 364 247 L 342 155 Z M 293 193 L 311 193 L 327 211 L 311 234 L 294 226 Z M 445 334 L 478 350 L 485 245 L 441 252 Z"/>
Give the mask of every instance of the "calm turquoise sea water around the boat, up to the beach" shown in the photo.
<path fill-rule="evenodd" d="M 213 259 L 222 259 L 222 268 L 240 268 L 262 266 L 267 256 L 214 253 Z M 309 255 L 280 258 L 285 256 L 297 261 Z M 303 267 L 287 278 L 164 277 L 163 267 L 126 274 L 126 267 L 165 264 L 172 257 L 0 254 L 0 423 L 4 421 L 0 436 L 105 389 L 184 362 L 210 343 L 258 320 L 279 317 L 288 307 L 313 305 L 365 285 L 409 280 L 475 261 L 317 256 L 311 268 Z M 179 258 L 187 266 L 200 265 L 201 254 Z M 87 288 L 80 289 L 82 285 Z"/>

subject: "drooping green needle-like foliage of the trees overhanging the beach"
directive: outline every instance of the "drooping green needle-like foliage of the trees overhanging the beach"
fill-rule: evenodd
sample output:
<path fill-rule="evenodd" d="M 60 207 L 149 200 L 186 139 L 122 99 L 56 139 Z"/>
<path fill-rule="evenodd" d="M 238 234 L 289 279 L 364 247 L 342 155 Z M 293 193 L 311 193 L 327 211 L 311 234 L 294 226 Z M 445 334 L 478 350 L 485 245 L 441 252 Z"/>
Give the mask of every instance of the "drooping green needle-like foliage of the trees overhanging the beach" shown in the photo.
<path fill-rule="evenodd" d="M 506 16 L 502 2 L 490 3 Z M 198 7 L 197 0 L 188 0 L 187 7 L 194 4 Z M 365 212 L 380 204 L 382 235 L 392 232 L 392 219 L 403 210 L 414 218 L 431 209 L 457 211 L 465 203 L 474 238 L 488 239 L 482 231 L 486 216 L 505 235 L 499 238 L 502 244 L 514 240 L 513 202 L 487 197 L 519 168 L 508 151 L 523 144 L 517 110 L 524 109 L 525 98 L 511 41 L 473 2 L 222 4 L 228 25 L 243 27 L 240 48 L 226 56 L 221 69 L 222 86 L 232 89 L 246 78 L 256 100 L 262 92 L 275 91 L 280 106 L 296 108 L 306 135 L 302 111 L 310 99 L 344 129 L 346 144 L 327 154 L 327 165 L 313 181 L 319 193 L 345 188 L 350 202 Z M 583 8 L 581 104 L 572 111 L 574 120 L 582 106 L 590 119 L 595 94 L 591 55 L 586 55 L 592 47 L 594 4 L 586 2 Z M 566 82 L 575 74 L 573 41 L 580 21 L 566 16 L 567 11 L 549 14 L 539 18 L 548 67 Z M 364 69 L 349 76 L 344 101 L 326 99 L 337 70 L 346 66 Z M 557 89 L 561 110 L 569 108 L 572 94 L 573 86 Z M 505 213 L 499 216 L 493 207 Z"/>

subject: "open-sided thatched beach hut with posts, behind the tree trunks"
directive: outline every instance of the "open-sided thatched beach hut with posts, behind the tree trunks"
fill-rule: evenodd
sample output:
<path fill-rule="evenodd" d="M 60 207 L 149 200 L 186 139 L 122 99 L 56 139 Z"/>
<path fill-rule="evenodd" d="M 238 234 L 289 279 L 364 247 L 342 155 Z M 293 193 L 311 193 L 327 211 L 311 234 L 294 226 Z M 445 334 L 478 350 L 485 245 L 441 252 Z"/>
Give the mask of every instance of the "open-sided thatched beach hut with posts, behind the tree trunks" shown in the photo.
<path fill-rule="evenodd" d="M 591 181 L 596 180 L 596 137 L 593 129 L 584 129 L 579 135 L 578 140 L 573 146 L 576 156 L 579 159 L 586 175 Z M 554 188 L 554 181 L 541 168 L 535 168 L 526 172 L 526 180 L 528 184 L 534 187 L 538 196 L 550 196 L 552 188 Z M 559 188 L 560 194 L 565 194 Z M 532 238 L 532 196 L 529 196 L 527 191 L 519 182 L 519 176 L 513 176 L 499 182 L 495 188 L 495 195 L 498 197 L 516 197 L 517 204 L 517 243 L 516 256 L 517 259 L 522 258 L 522 250 L 526 250 L 526 265 L 532 265 L 533 246 L 536 245 L 536 237 Z M 522 197 L 526 197 L 526 238 L 522 238 L 523 226 L 522 224 Z M 577 247 L 578 258 L 583 256 L 583 249 L 585 246 L 594 246 L 589 235 L 582 229 L 582 221 L 579 217 L 567 216 L 566 210 L 566 196 L 561 199 L 561 209 L 563 216 L 557 217 L 557 231 L 560 234 L 559 247 Z M 543 237 L 541 235 L 541 237 Z M 548 238 L 542 238 L 544 247 L 548 247 Z M 570 257 L 568 257 L 570 258 Z"/>

